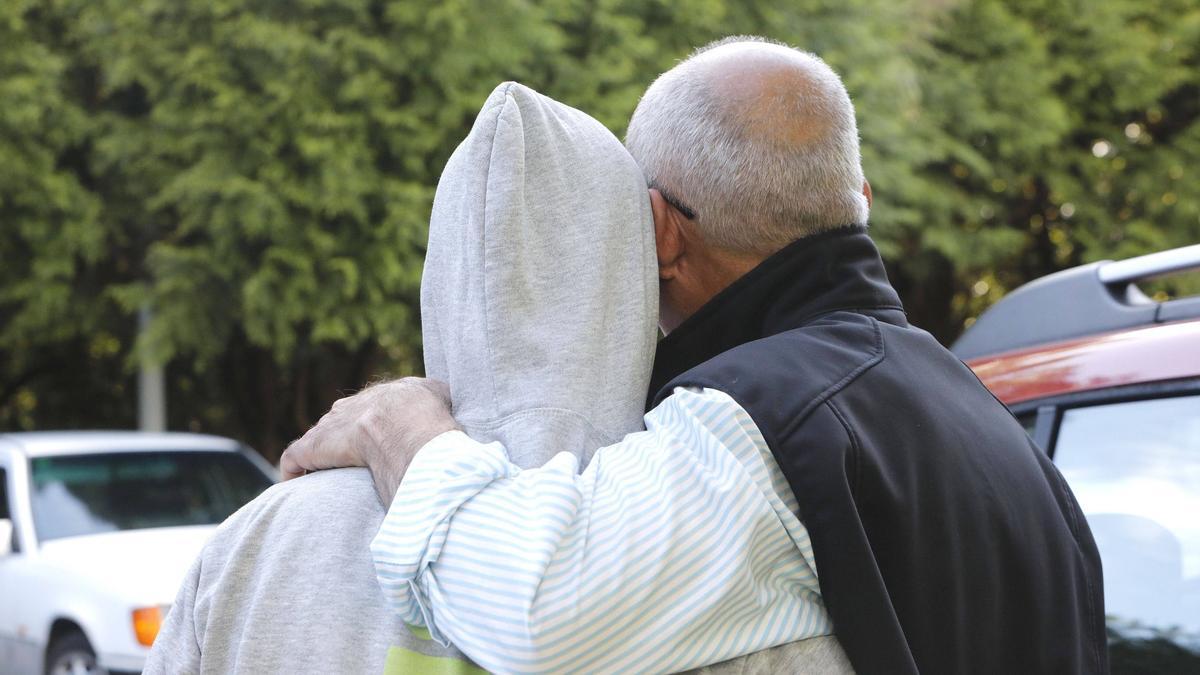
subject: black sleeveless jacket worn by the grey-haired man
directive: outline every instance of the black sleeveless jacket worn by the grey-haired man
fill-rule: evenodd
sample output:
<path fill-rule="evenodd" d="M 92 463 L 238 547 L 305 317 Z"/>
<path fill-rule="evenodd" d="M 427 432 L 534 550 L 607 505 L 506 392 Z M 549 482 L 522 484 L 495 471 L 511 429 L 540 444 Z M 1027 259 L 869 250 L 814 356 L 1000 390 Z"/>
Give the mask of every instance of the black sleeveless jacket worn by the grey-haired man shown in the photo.
<path fill-rule="evenodd" d="M 863 228 L 803 239 L 659 345 L 650 405 L 728 393 L 762 430 L 859 673 L 1105 673 L 1091 531 L 961 362 L 907 323 Z"/>

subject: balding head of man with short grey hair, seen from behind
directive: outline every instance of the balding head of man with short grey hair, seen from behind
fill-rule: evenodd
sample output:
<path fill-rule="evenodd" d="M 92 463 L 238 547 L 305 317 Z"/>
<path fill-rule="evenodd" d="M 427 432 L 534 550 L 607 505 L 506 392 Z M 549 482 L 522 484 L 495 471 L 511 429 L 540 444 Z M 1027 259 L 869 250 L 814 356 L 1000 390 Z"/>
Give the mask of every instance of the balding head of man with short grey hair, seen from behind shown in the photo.
<path fill-rule="evenodd" d="M 866 225 L 846 88 L 784 44 L 701 48 L 646 91 L 625 145 L 652 187 L 665 330 L 787 244 Z"/>

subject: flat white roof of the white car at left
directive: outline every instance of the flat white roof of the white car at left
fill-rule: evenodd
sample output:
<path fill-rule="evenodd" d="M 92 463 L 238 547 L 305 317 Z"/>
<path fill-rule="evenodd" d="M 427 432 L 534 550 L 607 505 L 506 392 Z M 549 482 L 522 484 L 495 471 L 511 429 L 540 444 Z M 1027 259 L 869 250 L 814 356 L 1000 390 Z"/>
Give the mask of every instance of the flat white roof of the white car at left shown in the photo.
<path fill-rule="evenodd" d="M 0 434 L 0 443 L 30 458 L 113 452 L 236 452 L 241 448 L 238 441 L 222 436 L 172 431 L 20 431 Z"/>

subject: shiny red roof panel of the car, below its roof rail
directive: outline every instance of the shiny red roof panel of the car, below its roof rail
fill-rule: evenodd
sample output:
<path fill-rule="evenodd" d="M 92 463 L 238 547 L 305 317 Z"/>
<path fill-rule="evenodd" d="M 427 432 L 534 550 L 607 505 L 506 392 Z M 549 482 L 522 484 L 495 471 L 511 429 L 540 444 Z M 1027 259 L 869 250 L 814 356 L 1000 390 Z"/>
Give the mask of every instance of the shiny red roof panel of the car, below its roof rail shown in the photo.
<path fill-rule="evenodd" d="M 1200 377 L 1200 321 L 1154 324 L 968 360 L 1013 405 L 1126 384 Z"/>

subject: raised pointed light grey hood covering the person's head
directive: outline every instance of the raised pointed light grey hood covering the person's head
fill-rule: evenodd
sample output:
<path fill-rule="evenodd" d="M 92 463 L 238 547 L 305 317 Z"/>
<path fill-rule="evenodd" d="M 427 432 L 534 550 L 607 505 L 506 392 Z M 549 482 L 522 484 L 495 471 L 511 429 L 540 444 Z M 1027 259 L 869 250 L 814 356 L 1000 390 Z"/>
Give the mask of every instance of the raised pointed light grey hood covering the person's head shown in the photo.
<path fill-rule="evenodd" d="M 421 279 L 425 372 L 520 466 L 642 428 L 658 322 L 646 179 L 587 114 L 498 86 L 446 163 Z"/>

